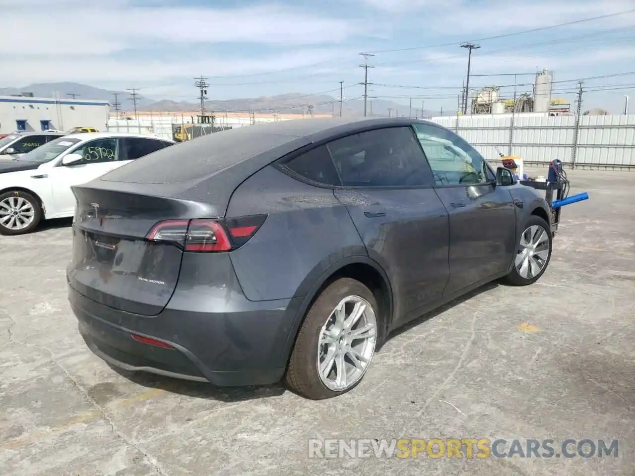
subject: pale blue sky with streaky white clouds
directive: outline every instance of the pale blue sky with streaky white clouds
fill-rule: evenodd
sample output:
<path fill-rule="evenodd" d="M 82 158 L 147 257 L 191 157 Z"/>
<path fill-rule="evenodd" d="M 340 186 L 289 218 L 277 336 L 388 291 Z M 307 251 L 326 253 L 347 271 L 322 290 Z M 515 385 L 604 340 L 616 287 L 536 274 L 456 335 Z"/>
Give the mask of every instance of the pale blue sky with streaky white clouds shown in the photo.
<path fill-rule="evenodd" d="M 0 87 L 75 81 L 195 102 L 194 76 L 213 98 L 282 93 L 363 94 L 361 51 L 375 52 L 369 95 L 408 107 L 456 109 L 472 56 L 471 87 L 554 72 L 554 95 L 621 112 L 635 100 L 635 0 L 0 0 Z M 502 36 L 498 38 L 490 38 Z M 392 50 L 392 51 L 386 51 Z M 517 91 L 533 78 L 517 76 Z M 634 103 L 635 104 L 635 103 Z"/>

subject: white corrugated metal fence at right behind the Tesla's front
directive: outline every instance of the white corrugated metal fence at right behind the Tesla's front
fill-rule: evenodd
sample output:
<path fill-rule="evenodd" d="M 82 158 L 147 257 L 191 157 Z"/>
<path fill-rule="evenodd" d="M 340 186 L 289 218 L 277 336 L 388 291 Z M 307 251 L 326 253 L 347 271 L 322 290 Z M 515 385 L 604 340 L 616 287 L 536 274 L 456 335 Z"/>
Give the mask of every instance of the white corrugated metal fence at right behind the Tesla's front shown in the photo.
<path fill-rule="evenodd" d="M 431 121 L 457 132 L 491 161 L 498 159 L 498 149 L 530 164 L 559 159 L 577 168 L 635 169 L 635 114 L 497 114 L 441 116 Z"/>

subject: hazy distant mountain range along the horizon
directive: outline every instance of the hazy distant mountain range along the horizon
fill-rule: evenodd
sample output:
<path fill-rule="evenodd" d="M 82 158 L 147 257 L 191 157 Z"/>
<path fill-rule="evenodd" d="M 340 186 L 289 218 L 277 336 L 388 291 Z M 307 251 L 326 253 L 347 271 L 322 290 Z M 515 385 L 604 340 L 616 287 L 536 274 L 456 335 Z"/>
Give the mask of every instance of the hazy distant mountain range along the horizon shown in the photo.
<path fill-rule="evenodd" d="M 88 84 L 79 83 L 36 83 L 23 88 L 0 88 L 0 96 L 21 95 L 32 93 L 36 97 L 52 98 L 57 93 L 60 98 L 70 98 L 76 95 L 77 99 L 93 99 L 108 101 L 114 104 L 114 96 L 121 104 L 120 110 L 129 112 L 133 106 L 129 100 L 129 91 L 108 91 L 95 88 Z M 312 105 L 315 114 L 339 114 L 340 102 L 338 98 L 328 95 L 306 95 L 302 93 L 289 93 L 277 96 L 263 96 L 260 98 L 238 98 L 229 100 L 209 99 L 205 102 L 206 110 L 220 114 L 221 112 L 277 112 L 279 114 L 302 114 L 309 112 Z M 386 100 L 372 100 L 368 104 L 370 114 L 373 116 L 408 116 L 408 105 L 394 103 Z M 111 107 L 111 109 L 114 109 Z M 169 99 L 154 100 L 144 96 L 138 96 L 137 110 L 148 112 L 194 112 L 200 109 L 199 103 L 177 102 Z M 390 112 L 389 112 L 390 110 Z M 413 107 L 412 114 L 416 112 Z M 364 114 L 363 100 L 344 100 L 342 105 L 343 116 L 362 116 Z M 421 115 L 421 111 L 418 111 Z M 424 116 L 434 116 L 437 112 L 424 111 Z M 452 115 L 456 112 L 448 111 L 445 114 Z"/>

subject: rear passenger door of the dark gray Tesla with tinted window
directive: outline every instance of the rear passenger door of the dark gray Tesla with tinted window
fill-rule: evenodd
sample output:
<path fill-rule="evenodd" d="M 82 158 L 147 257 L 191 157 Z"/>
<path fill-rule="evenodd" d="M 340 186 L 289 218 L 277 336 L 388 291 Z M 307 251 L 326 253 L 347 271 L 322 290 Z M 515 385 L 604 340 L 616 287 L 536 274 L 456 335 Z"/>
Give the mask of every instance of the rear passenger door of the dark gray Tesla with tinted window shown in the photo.
<path fill-rule="evenodd" d="M 316 168 L 332 160 L 335 168 Z M 298 175 L 335 183 L 368 255 L 391 280 L 395 315 L 406 321 L 441 298 L 448 267 L 448 214 L 410 127 L 347 136 L 287 164 Z"/>

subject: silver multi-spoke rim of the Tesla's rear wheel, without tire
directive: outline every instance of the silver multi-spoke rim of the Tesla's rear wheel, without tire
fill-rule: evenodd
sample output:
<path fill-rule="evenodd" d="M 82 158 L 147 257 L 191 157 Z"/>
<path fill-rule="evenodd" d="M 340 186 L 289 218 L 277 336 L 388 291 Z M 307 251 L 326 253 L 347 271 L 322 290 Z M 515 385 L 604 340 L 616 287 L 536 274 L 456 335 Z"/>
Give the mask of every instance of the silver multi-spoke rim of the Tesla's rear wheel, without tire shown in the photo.
<path fill-rule="evenodd" d="M 341 392 L 366 373 L 377 343 L 377 318 L 370 303 L 347 296 L 331 312 L 319 334 L 318 374 L 330 390 Z"/>

